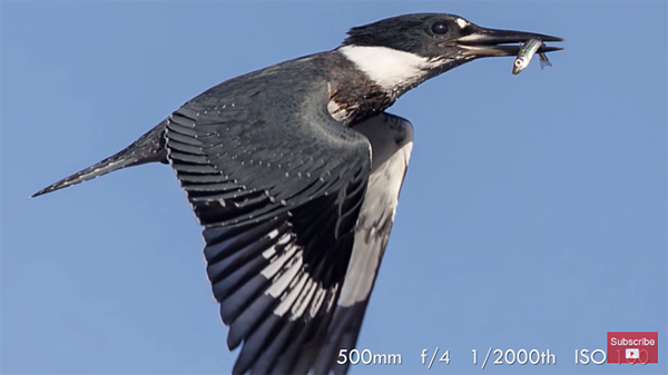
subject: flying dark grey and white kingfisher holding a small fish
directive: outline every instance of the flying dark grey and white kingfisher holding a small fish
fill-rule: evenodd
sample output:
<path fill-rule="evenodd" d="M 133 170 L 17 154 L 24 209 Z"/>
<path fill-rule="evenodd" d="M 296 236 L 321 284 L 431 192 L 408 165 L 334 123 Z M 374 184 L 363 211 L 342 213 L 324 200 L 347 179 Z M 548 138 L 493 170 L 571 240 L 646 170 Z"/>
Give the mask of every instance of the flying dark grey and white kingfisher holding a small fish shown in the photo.
<path fill-rule="evenodd" d="M 33 196 L 168 164 L 204 227 L 206 272 L 242 345 L 233 373 L 346 373 L 394 220 L 413 126 L 385 110 L 425 80 L 546 34 L 418 13 L 229 79 L 120 152 Z M 560 50 L 541 46 L 539 52 Z"/>

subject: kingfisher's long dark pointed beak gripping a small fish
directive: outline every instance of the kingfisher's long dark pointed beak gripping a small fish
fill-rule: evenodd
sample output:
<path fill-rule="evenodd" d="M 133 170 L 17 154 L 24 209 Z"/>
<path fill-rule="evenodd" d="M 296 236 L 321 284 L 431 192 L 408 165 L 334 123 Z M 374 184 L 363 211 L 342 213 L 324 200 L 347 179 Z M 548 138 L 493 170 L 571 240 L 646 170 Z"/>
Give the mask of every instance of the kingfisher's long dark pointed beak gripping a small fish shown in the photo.
<path fill-rule="evenodd" d="M 540 39 L 543 42 L 563 41 L 561 38 L 544 36 L 542 33 L 484 29 L 473 24 L 470 27 L 473 29 L 470 34 L 453 41 L 464 49 L 464 56 L 474 58 L 517 56 L 520 52 L 520 45 L 530 39 Z M 542 46 L 538 49 L 538 52 L 552 52 L 562 49 L 561 47 Z"/>

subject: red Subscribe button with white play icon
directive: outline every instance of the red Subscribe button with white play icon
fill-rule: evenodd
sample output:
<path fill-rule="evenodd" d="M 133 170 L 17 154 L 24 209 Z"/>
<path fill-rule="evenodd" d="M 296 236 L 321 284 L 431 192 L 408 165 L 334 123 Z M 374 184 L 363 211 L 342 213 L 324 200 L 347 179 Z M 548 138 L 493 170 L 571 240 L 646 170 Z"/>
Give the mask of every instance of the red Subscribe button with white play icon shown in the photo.
<path fill-rule="evenodd" d="M 608 363 L 659 363 L 659 333 L 609 332 Z"/>

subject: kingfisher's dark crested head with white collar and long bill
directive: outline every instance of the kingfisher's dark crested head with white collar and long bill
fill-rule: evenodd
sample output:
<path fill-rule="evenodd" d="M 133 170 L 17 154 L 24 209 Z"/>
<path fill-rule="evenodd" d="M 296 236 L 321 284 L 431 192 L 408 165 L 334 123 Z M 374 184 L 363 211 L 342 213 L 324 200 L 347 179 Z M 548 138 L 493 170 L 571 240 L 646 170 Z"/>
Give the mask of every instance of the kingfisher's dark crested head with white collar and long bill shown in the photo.
<path fill-rule="evenodd" d="M 540 33 L 479 27 L 459 16 L 418 13 L 387 18 L 348 31 L 337 49 L 367 77 L 396 96 L 462 63 L 517 56 L 530 39 L 563 41 Z M 560 47 L 541 47 L 539 52 Z"/>

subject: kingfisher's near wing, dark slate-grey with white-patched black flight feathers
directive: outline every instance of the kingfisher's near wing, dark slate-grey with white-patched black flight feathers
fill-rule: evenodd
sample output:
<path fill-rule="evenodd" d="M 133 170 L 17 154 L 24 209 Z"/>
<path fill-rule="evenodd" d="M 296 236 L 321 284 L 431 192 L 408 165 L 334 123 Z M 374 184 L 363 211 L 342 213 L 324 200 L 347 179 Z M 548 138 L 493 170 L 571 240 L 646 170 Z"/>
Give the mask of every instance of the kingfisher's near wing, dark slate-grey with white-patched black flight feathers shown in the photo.
<path fill-rule="evenodd" d="M 167 124 L 227 345 L 244 342 L 234 373 L 289 373 L 331 328 L 366 191 L 369 140 L 332 119 L 326 86 L 301 78 L 214 88 Z"/>

